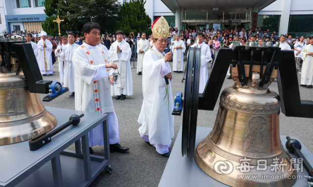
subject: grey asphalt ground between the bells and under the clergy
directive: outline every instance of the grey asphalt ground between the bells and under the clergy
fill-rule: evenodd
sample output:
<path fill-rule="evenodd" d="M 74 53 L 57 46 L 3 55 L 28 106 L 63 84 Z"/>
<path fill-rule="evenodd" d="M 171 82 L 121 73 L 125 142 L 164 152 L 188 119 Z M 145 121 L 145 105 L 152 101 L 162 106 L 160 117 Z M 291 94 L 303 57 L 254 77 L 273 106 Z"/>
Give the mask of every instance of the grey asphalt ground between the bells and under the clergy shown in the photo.
<path fill-rule="evenodd" d="M 170 63 L 172 65 L 172 63 Z M 185 64 L 185 63 L 184 63 Z M 132 62 L 133 65 L 133 62 Z M 136 62 L 135 62 L 136 65 Z M 210 68 L 208 69 L 210 71 Z M 137 119 L 142 104 L 142 75 L 136 74 L 136 69 L 132 69 L 134 95 L 128 96 L 126 100 L 113 99 L 114 109 L 119 121 L 120 144 L 127 146 L 130 150 L 127 153 L 111 153 L 111 165 L 113 172 L 101 172 L 100 175 L 90 185 L 91 187 L 156 187 L 161 179 L 163 170 L 167 163 L 167 158 L 160 156 L 156 150 L 147 145 L 139 136 L 138 128 L 140 124 Z M 174 79 L 172 84 L 173 95 L 176 92 L 184 91 L 184 83 L 181 83 L 183 73 L 173 73 Z M 298 74 L 298 80 L 300 80 Z M 45 80 L 59 80 L 59 76 L 44 76 Z M 300 83 L 300 82 L 299 82 Z M 224 80 L 223 89 L 233 85 L 233 80 Z M 278 93 L 277 82 L 274 81 L 270 89 Z M 313 100 L 313 89 L 300 87 L 301 99 Z M 74 110 L 74 98 L 68 98 L 70 93 L 58 97 L 57 99 L 44 103 L 45 106 L 58 107 Z M 40 95 L 41 98 L 44 95 Z M 214 111 L 199 111 L 198 126 L 213 127 L 218 104 Z M 175 143 L 182 117 L 175 116 L 175 136 L 172 146 Z M 313 152 L 312 145 L 312 119 L 286 117 L 280 113 L 280 132 L 281 135 L 297 136 L 304 145 Z M 74 146 L 70 146 L 69 150 L 74 150 Z M 103 148 L 96 147 L 96 154 L 101 155 Z M 170 148 L 170 150 L 172 147 Z"/>

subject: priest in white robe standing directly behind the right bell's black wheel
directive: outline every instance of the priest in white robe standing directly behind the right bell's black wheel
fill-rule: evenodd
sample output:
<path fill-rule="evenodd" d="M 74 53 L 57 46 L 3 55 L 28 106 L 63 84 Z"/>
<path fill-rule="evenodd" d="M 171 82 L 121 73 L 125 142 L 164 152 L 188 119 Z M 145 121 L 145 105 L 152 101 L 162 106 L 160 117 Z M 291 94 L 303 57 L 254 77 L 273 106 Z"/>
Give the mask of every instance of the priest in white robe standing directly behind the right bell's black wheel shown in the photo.
<path fill-rule="evenodd" d="M 199 45 L 197 43 L 193 44 L 191 47 L 201 48 L 201 68 L 200 68 L 200 82 L 199 82 L 199 93 L 203 93 L 205 85 L 208 79 L 207 63 L 211 61 L 211 50 L 210 47 L 203 42 L 203 33 L 197 33 L 197 40 L 199 40 Z M 198 42 L 198 41 L 197 41 Z"/>

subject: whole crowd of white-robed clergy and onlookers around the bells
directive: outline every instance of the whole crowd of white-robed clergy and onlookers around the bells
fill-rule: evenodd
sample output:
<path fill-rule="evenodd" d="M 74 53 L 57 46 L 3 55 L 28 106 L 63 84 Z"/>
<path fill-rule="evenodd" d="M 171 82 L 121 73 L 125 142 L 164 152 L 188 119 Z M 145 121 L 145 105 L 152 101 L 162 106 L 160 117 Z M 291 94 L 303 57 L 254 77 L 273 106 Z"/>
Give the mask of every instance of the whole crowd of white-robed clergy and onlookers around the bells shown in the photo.
<path fill-rule="evenodd" d="M 105 31 L 100 35 L 100 26 L 93 22 L 84 25 L 83 35 L 68 33 L 60 38 L 61 41 L 45 31 L 39 35 L 20 33 L 31 43 L 42 75 L 52 75 L 52 65 L 58 61 L 60 82 L 68 87 L 69 97 L 75 97 L 75 110 L 109 115 L 110 149 L 116 151 L 129 148 L 119 145 L 112 96 L 116 100 L 125 100 L 127 95 L 133 95 L 131 60 L 135 58 L 137 75 L 143 76 L 143 103 L 138 118 L 142 126 L 138 131 L 147 144 L 156 147 L 156 151 L 165 157 L 170 155 L 168 148 L 174 136 L 174 117 L 170 112 L 173 108 L 172 68 L 173 72 L 182 72 L 184 53 L 189 47 L 201 48 L 199 93 L 203 93 L 208 80 L 207 64 L 211 62 L 213 65 L 219 49 L 231 48 L 233 41 L 240 41 L 240 45 L 255 42 L 257 46 L 277 41 L 282 50 L 293 50 L 297 71 L 303 60 L 300 86 L 312 88 L 313 36 L 292 40 L 291 36 L 278 37 L 275 31 L 270 33 L 269 29 L 262 31 L 260 28 L 247 32 L 245 28 L 224 29 L 222 32 L 205 28 L 202 31 L 200 28 L 178 31 L 174 27 L 167 30 L 163 27 L 166 20 L 161 19 L 156 19 L 151 28 L 154 34 L 149 36 L 144 32 L 137 33 L 137 36 L 133 32 L 126 35 L 120 30 L 115 33 Z M 173 61 L 172 68 L 170 60 Z M 103 134 L 98 133 L 103 131 L 100 126 L 89 134 L 90 153 L 94 153 L 91 149 L 94 145 L 103 145 Z"/>

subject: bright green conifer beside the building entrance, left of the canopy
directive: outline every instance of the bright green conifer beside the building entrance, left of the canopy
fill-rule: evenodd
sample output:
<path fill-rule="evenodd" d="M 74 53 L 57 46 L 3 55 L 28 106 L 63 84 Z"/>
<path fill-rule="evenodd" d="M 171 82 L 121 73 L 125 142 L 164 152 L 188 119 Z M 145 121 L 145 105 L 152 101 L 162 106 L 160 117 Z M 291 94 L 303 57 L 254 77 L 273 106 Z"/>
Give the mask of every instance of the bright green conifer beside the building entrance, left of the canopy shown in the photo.
<path fill-rule="evenodd" d="M 146 0 L 125 1 L 120 8 L 115 30 L 122 30 L 126 34 L 145 32 L 147 36 L 150 35 L 151 19 L 146 14 L 145 3 Z"/>

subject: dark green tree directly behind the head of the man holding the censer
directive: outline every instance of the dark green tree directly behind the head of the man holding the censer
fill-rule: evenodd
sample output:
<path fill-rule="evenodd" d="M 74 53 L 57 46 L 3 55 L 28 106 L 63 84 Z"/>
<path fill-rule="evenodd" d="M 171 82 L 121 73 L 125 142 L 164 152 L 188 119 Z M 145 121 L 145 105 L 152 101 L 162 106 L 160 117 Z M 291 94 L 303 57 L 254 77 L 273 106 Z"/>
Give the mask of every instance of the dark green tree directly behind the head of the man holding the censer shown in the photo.
<path fill-rule="evenodd" d="M 84 24 L 89 21 L 99 23 L 102 32 L 113 31 L 120 4 L 118 0 L 66 0 L 58 7 L 67 12 L 65 17 L 69 20 L 70 31 L 81 34 Z"/>

